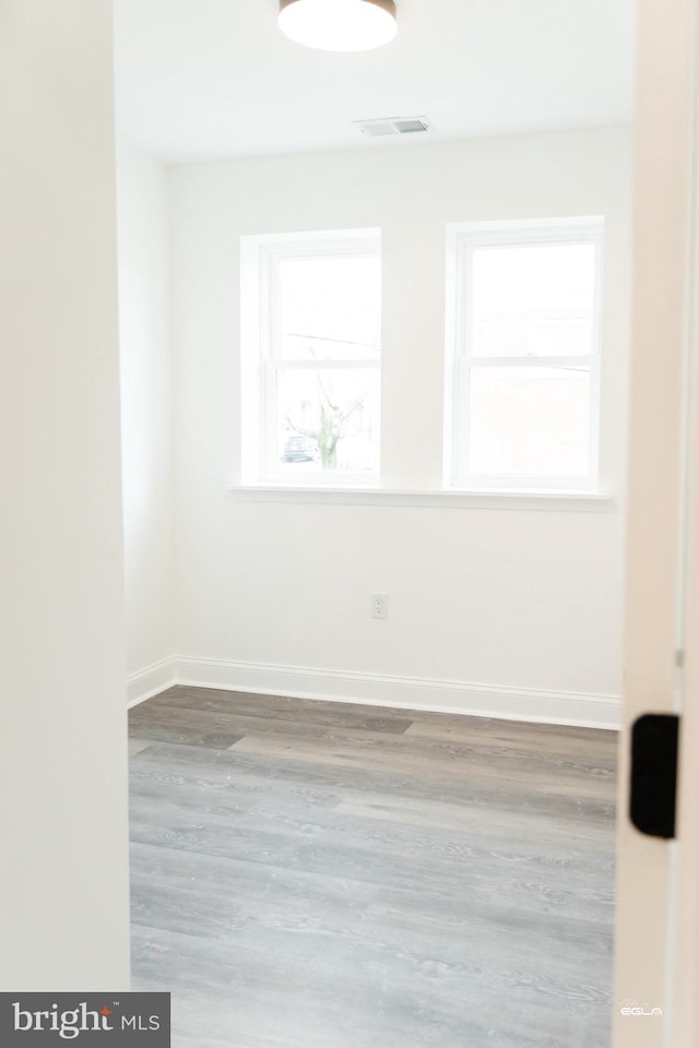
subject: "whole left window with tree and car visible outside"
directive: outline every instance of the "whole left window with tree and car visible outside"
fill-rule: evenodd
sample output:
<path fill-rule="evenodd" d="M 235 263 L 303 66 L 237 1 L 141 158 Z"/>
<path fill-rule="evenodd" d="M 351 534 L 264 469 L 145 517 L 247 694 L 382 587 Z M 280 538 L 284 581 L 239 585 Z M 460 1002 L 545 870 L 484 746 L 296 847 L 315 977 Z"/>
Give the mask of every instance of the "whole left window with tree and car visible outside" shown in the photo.
<path fill-rule="evenodd" d="M 242 238 L 244 480 L 376 483 L 380 231 Z"/>

